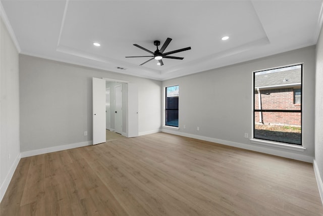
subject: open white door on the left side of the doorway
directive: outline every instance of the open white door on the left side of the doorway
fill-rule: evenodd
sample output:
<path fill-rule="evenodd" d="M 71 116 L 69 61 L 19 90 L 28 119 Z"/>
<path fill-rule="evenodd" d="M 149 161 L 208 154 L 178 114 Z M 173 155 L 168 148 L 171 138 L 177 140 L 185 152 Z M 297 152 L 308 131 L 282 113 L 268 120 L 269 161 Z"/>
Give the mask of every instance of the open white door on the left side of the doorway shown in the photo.
<path fill-rule="evenodd" d="M 105 80 L 92 78 L 93 145 L 105 143 Z"/>

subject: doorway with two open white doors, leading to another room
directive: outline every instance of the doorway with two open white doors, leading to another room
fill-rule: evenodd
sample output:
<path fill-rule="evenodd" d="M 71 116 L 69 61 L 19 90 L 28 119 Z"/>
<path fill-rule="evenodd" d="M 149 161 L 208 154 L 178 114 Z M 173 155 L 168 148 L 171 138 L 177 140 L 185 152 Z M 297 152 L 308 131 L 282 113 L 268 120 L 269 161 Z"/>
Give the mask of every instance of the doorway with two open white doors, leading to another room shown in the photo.
<path fill-rule="evenodd" d="M 116 110 L 116 99 L 114 98 L 116 86 L 121 86 L 122 94 L 122 105 L 121 105 L 121 126 L 117 129 L 120 130 L 121 134 L 127 138 L 138 137 L 138 88 L 135 84 L 129 83 L 128 81 L 116 80 L 110 78 L 95 78 L 92 79 L 93 83 L 93 145 L 106 142 L 106 115 L 109 115 L 107 104 L 110 104 L 110 129 L 116 131 L 115 122 L 115 111 Z M 109 85 L 110 84 L 110 85 Z M 110 88 L 110 96 L 106 96 L 106 90 Z M 120 94 L 120 89 L 117 88 Z M 103 94 L 102 94 L 103 93 Z M 117 94 L 117 95 L 118 95 Z M 102 96 L 103 95 L 103 96 Z M 100 97 L 98 97 L 100 96 Z M 110 97 L 110 102 L 106 98 Z M 118 96 L 119 99 L 121 98 Z M 120 101 L 117 103 L 120 103 Z M 102 110 L 103 113 L 98 115 L 96 110 Z M 109 107 L 108 107 L 109 108 Z M 101 112 L 100 112 L 101 113 Z M 108 117 L 109 118 L 109 117 Z M 118 117 L 117 117 L 118 118 Z M 102 124 L 103 122 L 103 124 Z M 118 126 L 118 123 L 117 123 Z M 102 137 L 103 135 L 103 137 Z"/>

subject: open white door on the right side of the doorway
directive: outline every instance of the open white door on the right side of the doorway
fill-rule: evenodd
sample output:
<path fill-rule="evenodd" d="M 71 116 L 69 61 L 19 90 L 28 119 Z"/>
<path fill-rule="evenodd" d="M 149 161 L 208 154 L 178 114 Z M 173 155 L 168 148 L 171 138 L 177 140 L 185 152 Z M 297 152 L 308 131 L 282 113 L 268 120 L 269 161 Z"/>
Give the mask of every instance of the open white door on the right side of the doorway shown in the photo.
<path fill-rule="evenodd" d="M 127 137 L 138 137 L 138 88 L 128 83 L 128 124 Z"/>

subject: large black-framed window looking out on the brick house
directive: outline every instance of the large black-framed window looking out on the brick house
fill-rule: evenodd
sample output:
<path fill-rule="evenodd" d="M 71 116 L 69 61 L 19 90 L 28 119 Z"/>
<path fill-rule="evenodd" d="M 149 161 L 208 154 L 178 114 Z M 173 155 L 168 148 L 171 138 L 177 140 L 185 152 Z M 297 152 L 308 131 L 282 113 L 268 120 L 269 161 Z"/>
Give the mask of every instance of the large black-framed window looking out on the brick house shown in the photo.
<path fill-rule="evenodd" d="M 253 73 L 253 138 L 302 145 L 302 65 Z"/>

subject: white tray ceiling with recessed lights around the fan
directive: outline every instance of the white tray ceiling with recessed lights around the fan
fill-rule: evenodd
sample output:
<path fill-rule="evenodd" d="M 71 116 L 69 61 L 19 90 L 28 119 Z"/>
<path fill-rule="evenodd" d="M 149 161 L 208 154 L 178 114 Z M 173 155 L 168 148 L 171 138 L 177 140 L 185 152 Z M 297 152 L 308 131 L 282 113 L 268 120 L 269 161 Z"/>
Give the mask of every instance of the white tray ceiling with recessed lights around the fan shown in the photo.
<path fill-rule="evenodd" d="M 22 54 L 158 80 L 315 45 L 323 13 L 322 1 L 1 3 Z M 153 41 L 163 45 L 167 37 L 165 52 L 192 48 L 172 55 L 184 60 L 139 66 L 149 58 L 125 58 L 150 55 L 133 44 L 154 52 Z"/>

